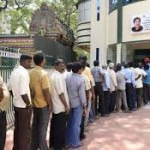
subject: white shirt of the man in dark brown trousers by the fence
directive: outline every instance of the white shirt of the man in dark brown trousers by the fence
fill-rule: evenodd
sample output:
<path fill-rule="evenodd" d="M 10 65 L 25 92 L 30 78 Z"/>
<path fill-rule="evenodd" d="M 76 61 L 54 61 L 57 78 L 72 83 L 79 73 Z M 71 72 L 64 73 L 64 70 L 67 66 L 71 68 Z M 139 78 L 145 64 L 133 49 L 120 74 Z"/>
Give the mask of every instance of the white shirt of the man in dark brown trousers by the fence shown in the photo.
<path fill-rule="evenodd" d="M 28 95 L 31 102 L 30 94 L 30 77 L 28 71 L 21 65 L 15 68 L 10 77 L 9 89 L 13 92 L 13 105 L 18 108 L 26 108 L 21 95 Z"/>

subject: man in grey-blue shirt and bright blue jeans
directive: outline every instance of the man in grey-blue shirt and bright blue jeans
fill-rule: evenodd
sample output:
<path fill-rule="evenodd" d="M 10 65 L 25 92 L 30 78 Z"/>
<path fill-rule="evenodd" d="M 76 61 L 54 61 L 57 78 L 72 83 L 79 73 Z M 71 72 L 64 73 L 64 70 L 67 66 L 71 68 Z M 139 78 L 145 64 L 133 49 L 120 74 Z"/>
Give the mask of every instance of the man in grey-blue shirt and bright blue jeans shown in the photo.
<path fill-rule="evenodd" d="M 72 66 L 73 74 L 66 79 L 70 101 L 70 116 L 66 129 L 66 145 L 71 148 L 78 148 L 80 143 L 80 124 L 83 112 L 86 112 L 85 80 L 81 76 L 82 65 L 76 62 Z"/>

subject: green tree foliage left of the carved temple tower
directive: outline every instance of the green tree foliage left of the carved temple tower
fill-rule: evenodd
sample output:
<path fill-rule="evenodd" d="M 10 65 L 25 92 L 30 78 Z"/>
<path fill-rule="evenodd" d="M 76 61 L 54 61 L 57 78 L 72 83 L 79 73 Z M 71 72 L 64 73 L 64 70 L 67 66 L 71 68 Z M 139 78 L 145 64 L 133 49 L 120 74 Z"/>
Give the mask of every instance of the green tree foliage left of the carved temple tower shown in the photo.
<path fill-rule="evenodd" d="M 41 2 L 42 0 L 9 0 L 7 8 L 1 12 L 1 15 L 11 17 L 11 34 L 29 33 L 32 13 Z"/>

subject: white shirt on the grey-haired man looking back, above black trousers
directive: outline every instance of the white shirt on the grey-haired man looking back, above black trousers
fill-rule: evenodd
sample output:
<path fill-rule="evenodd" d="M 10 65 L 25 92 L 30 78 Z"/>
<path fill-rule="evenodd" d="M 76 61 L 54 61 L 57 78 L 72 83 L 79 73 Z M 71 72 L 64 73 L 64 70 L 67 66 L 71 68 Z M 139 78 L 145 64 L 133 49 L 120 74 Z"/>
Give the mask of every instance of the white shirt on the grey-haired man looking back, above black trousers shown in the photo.
<path fill-rule="evenodd" d="M 61 102 L 61 99 L 59 98 L 59 95 L 64 94 L 66 103 L 68 104 L 69 107 L 69 98 L 68 98 L 66 82 L 63 73 L 60 73 L 57 70 L 55 70 L 54 73 L 51 75 L 51 79 L 53 83 L 52 111 L 54 114 L 65 112 L 65 107 Z"/>

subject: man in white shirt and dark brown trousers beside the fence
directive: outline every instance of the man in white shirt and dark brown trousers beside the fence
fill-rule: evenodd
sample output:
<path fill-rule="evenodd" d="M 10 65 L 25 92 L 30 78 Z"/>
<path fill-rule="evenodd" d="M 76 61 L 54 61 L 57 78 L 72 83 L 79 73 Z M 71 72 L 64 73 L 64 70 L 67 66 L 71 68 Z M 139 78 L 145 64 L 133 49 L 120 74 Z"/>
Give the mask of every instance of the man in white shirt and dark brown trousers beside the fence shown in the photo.
<path fill-rule="evenodd" d="M 10 77 L 10 90 L 14 96 L 15 110 L 13 150 L 30 149 L 31 95 L 27 69 L 31 67 L 31 62 L 31 56 L 21 55 L 20 65 L 13 70 Z"/>

